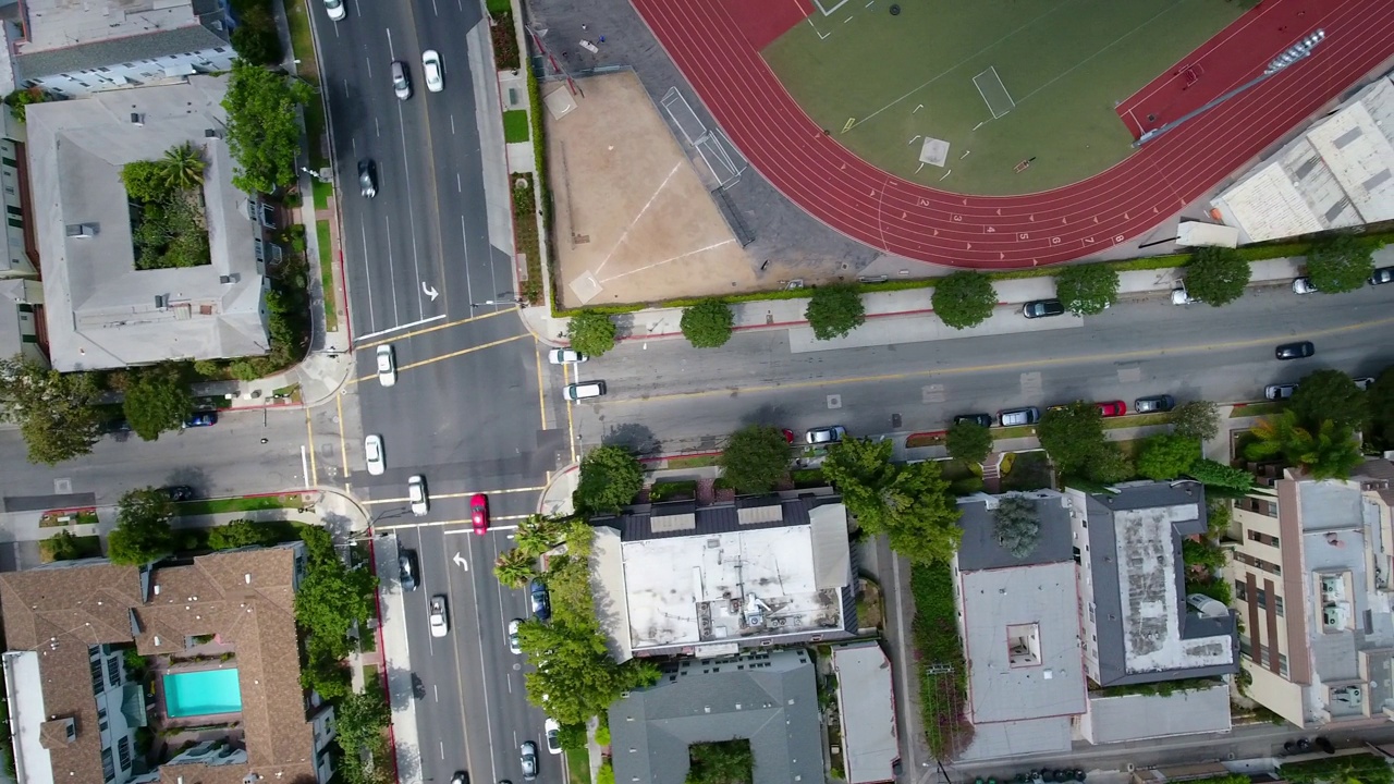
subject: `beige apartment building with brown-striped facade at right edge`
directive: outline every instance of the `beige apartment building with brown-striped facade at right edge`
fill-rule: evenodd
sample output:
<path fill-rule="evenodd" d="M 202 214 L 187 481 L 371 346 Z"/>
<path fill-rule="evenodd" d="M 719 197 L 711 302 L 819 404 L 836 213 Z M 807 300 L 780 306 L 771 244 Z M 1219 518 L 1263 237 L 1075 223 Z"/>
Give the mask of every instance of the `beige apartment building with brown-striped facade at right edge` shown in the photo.
<path fill-rule="evenodd" d="M 1256 476 L 1234 502 L 1227 566 L 1249 696 L 1299 727 L 1394 718 L 1394 465 Z"/>

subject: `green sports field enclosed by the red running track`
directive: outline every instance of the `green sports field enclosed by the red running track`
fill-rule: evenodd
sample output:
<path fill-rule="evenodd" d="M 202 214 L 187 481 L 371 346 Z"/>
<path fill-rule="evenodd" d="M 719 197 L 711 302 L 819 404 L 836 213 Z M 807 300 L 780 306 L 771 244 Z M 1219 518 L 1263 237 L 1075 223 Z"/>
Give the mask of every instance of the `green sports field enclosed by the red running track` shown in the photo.
<path fill-rule="evenodd" d="M 1114 106 L 1242 13 L 1225 0 L 896 1 L 899 15 L 888 0 L 815 8 L 765 60 L 863 159 L 926 186 L 1004 195 L 1122 160 L 1132 137 Z M 994 105 L 1011 107 L 997 119 L 973 81 L 988 68 L 1015 102 L 980 78 Z M 921 167 L 924 137 L 949 142 L 942 167 Z"/>

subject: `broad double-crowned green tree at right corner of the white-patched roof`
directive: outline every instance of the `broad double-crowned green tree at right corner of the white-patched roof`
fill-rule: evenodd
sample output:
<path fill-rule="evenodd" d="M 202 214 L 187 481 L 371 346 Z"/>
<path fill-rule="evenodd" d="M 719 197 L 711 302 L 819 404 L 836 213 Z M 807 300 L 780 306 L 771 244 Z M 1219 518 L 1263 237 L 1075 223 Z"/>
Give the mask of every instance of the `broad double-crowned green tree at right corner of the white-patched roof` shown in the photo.
<path fill-rule="evenodd" d="M 949 483 L 934 460 L 892 463 L 891 448 L 891 441 L 843 441 L 829 451 L 822 476 L 867 533 L 885 534 L 910 561 L 947 564 L 963 536 Z"/>

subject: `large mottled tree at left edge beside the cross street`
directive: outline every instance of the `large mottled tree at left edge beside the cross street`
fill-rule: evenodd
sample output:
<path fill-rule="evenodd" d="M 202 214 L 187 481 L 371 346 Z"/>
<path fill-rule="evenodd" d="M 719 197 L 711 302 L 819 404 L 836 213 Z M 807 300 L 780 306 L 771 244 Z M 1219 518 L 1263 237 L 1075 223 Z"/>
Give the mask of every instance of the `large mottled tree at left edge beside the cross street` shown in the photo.
<path fill-rule="evenodd" d="M 31 463 L 92 452 L 102 438 L 100 398 L 89 372 L 59 372 L 21 354 L 0 360 L 0 417 L 20 425 Z"/>

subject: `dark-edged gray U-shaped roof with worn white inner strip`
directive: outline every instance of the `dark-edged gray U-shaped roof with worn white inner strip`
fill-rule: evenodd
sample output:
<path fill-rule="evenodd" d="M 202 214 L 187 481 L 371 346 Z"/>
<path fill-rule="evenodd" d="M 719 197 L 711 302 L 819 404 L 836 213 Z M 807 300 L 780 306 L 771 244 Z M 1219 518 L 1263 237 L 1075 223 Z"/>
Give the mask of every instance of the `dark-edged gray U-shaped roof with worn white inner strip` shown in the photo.
<path fill-rule="evenodd" d="M 1199 483 L 1125 483 L 1117 492 L 1068 491 L 1087 515 L 1101 686 L 1238 671 L 1232 612 L 1202 617 L 1186 603 L 1181 543 L 1206 532 Z"/>

